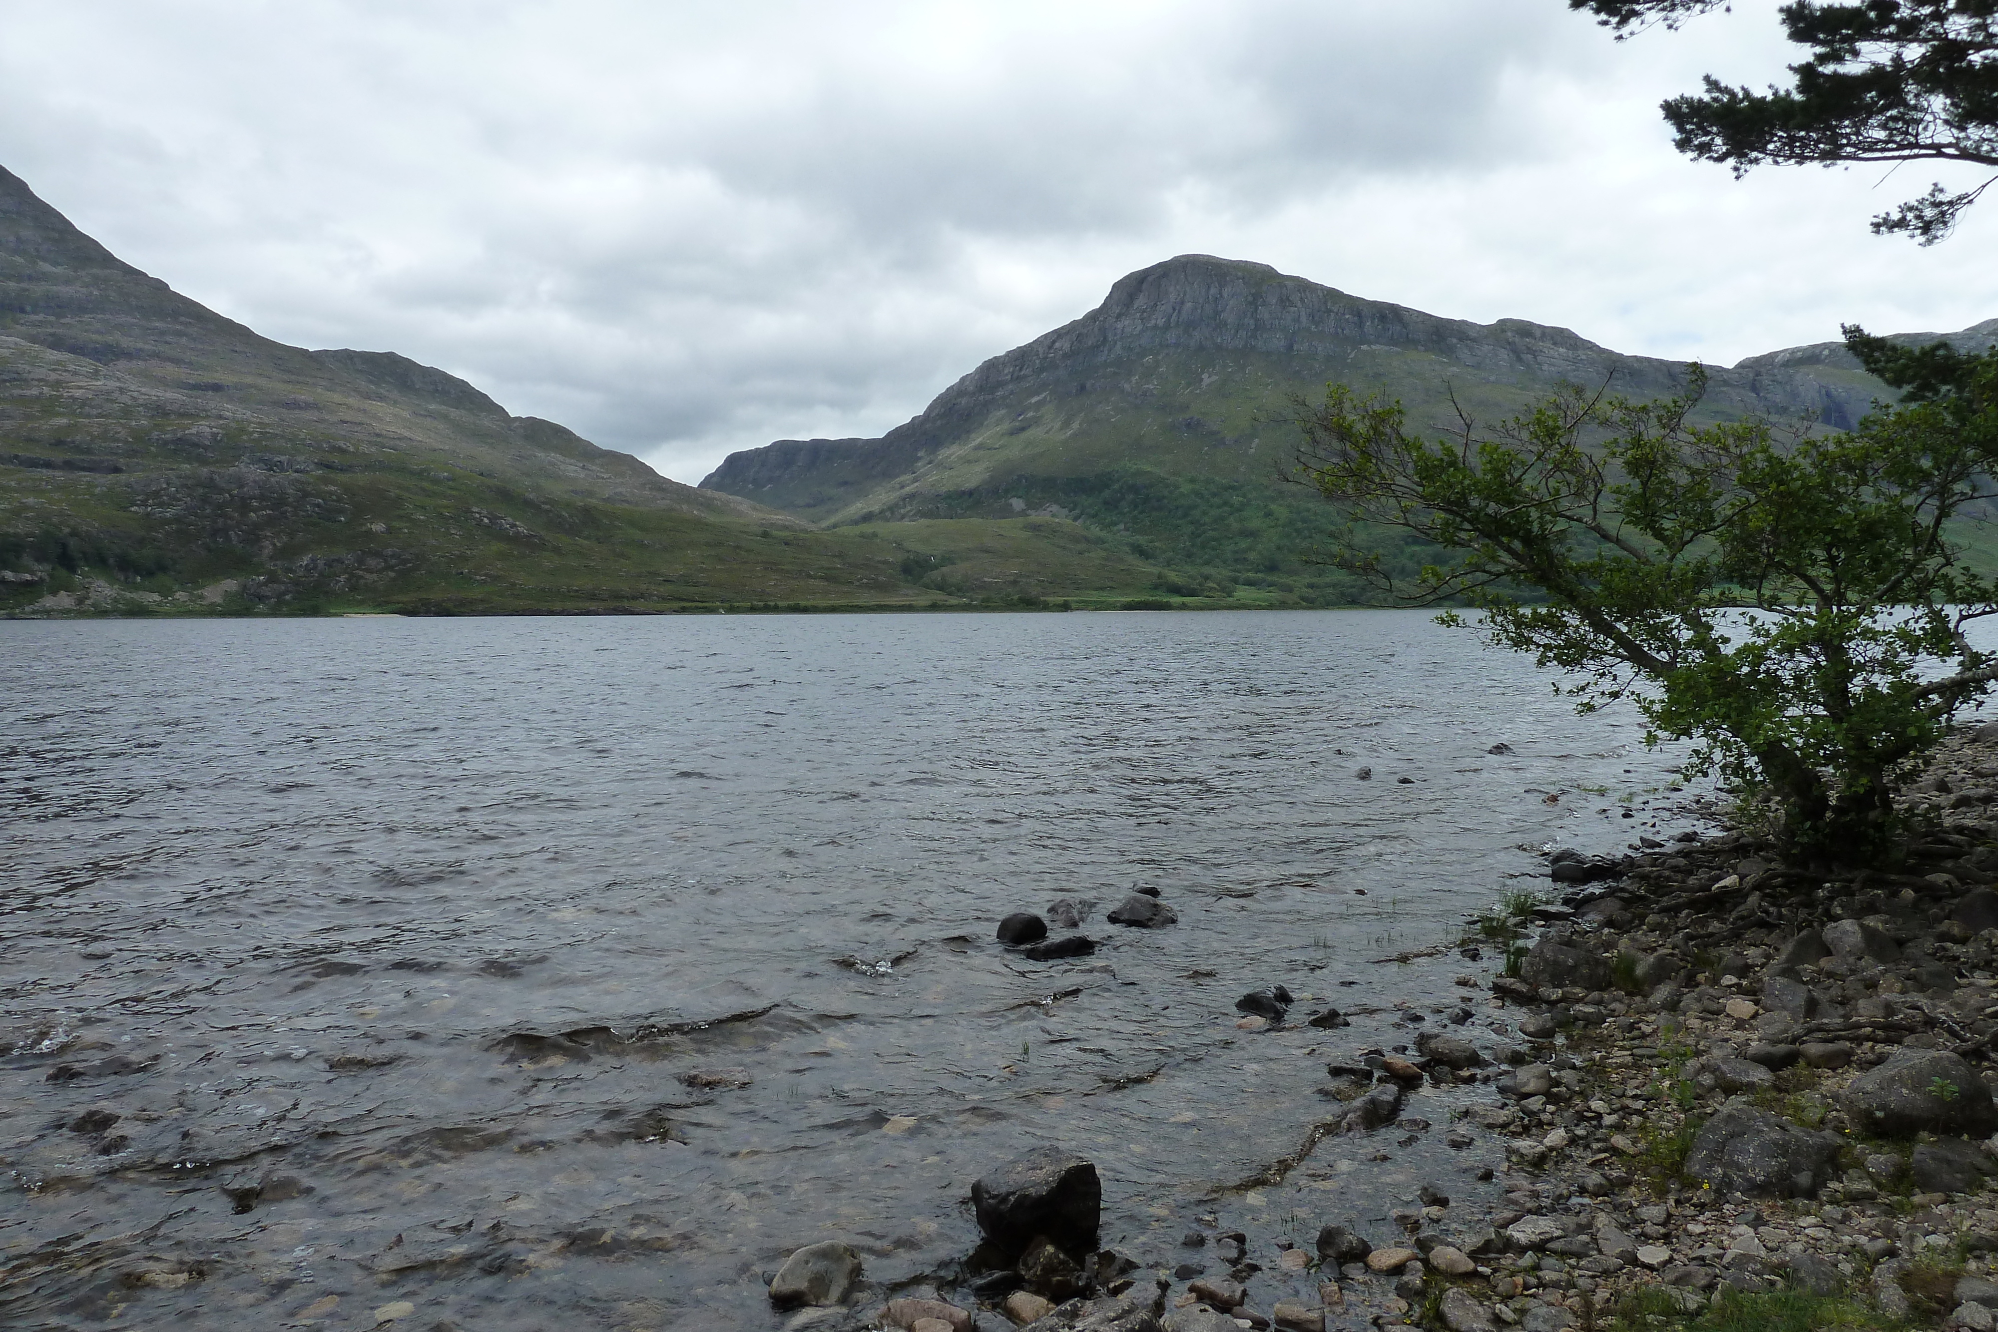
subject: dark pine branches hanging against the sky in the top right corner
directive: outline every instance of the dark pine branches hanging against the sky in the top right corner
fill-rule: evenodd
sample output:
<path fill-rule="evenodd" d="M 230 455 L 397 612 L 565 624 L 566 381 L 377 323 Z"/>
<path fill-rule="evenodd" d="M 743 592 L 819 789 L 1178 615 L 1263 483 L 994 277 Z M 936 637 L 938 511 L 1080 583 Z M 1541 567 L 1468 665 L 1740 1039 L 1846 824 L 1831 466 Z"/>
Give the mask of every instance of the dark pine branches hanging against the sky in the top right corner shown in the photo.
<path fill-rule="evenodd" d="M 1676 28 L 1726 0 L 1568 0 L 1592 10 L 1618 40 L 1658 24 Z M 1762 164 L 1946 160 L 1998 166 L 1998 0 L 1862 0 L 1782 6 L 1784 34 L 1810 48 L 1790 88 L 1766 94 L 1706 76 L 1700 96 L 1670 98 L 1674 146 L 1740 176 Z M 1872 220 L 1924 246 L 1998 176 L 1972 190 L 1940 184 Z"/>

